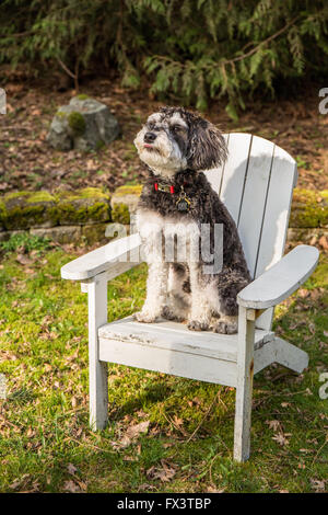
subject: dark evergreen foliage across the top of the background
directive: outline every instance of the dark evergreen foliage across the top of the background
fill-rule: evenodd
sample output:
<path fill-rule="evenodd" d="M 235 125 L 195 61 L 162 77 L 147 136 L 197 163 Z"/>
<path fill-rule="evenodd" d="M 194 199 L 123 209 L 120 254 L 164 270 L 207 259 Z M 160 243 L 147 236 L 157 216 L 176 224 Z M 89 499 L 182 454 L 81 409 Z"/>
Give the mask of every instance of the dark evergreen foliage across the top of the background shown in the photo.
<path fill-rule="evenodd" d="M 60 69 L 206 110 L 328 76 L 327 0 L 4 0 L 0 64 Z"/>

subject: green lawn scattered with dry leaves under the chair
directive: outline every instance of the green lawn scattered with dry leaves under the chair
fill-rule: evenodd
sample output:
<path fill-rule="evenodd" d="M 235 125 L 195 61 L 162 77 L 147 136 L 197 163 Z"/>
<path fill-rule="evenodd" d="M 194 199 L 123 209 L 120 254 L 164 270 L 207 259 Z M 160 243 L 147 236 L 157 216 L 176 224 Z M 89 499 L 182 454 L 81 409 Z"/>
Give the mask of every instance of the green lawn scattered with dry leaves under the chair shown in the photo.
<path fill-rule="evenodd" d="M 301 376 L 272 365 L 255 378 L 253 454 L 232 460 L 234 390 L 109 366 L 109 420 L 87 425 L 86 295 L 60 278 L 74 258 L 7 252 L 0 265 L 0 491 L 314 492 L 327 490 L 327 259 L 278 309 L 279 334 L 309 353 Z M 144 266 L 112 281 L 108 318 L 141 307 Z M 326 323 L 326 327 L 325 327 Z M 326 332 L 327 336 L 327 332 Z M 133 424 L 145 433 L 125 446 Z M 145 424 L 147 425 L 147 424 Z M 326 481 L 326 482 L 325 482 Z"/>

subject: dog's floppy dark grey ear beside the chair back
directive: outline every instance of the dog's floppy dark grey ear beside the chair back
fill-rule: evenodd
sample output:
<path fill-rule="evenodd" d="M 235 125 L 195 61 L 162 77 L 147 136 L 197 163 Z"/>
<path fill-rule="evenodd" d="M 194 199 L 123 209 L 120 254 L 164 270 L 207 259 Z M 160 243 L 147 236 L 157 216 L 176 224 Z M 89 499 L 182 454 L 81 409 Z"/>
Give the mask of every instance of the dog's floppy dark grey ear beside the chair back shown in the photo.
<path fill-rule="evenodd" d="M 208 170 L 223 164 L 227 157 L 225 140 L 210 122 L 198 118 L 190 126 L 187 152 L 191 170 Z"/>

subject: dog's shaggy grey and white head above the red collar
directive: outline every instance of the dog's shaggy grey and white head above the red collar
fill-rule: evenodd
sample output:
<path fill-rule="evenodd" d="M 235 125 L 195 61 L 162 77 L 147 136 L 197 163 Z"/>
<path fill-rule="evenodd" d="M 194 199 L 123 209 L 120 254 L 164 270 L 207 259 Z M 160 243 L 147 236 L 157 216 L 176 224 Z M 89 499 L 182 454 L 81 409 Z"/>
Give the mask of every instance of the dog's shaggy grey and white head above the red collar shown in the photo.
<path fill-rule="evenodd" d="M 134 145 L 155 174 L 219 167 L 227 154 L 225 140 L 210 122 L 183 107 L 162 107 L 149 116 Z"/>

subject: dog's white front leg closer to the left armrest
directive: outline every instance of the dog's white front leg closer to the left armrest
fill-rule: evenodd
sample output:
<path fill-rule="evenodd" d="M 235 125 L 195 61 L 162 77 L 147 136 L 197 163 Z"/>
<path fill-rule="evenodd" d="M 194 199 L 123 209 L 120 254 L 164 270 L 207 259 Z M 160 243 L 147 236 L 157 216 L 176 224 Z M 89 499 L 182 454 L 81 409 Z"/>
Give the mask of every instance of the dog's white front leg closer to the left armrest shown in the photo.
<path fill-rule="evenodd" d="M 168 265 L 163 261 L 149 263 L 147 298 L 141 311 L 133 314 L 138 322 L 156 322 L 166 301 Z"/>

